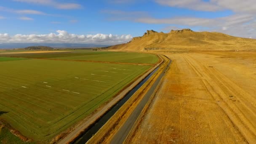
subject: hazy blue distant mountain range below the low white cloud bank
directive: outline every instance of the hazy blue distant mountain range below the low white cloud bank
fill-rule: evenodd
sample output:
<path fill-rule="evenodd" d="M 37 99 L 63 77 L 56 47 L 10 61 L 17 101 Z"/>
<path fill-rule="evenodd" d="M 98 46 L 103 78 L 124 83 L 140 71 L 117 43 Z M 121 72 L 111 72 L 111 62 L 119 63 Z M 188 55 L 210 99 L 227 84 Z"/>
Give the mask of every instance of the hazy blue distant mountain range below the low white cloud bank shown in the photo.
<path fill-rule="evenodd" d="M 109 45 L 96 45 L 96 44 L 77 44 L 77 43 L 2 43 L 0 49 L 11 48 L 26 48 L 34 45 L 44 45 L 52 48 L 95 48 L 95 47 L 107 47 Z"/>

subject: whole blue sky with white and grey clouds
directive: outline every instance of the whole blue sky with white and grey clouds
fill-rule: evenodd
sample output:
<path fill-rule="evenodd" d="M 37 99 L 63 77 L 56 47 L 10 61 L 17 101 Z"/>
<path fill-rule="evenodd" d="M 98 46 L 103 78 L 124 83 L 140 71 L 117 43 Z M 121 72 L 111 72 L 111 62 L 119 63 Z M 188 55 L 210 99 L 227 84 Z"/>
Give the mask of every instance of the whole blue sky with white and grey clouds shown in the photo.
<path fill-rule="evenodd" d="M 147 29 L 182 28 L 255 38 L 255 5 L 255 0 L 1 0 L 0 43 L 117 44 Z"/>

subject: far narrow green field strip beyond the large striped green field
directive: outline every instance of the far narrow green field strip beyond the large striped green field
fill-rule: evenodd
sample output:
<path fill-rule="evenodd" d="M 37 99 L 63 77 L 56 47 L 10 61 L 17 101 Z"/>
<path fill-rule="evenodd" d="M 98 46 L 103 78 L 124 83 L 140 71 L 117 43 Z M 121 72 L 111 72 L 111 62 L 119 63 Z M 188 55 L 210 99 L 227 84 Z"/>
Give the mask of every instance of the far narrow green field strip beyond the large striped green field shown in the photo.
<path fill-rule="evenodd" d="M 1 54 L 0 54 L 1 56 Z M 2 56 L 6 56 L 2 54 Z M 157 56 L 148 53 L 133 52 L 113 52 L 113 51 L 68 51 L 59 53 L 22 53 L 10 54 L 11 57 L 23 58 L 46 58 L 46 59 L 67 59 L 67 60 L 87 60 L 87 61 L 112 61 L 127 63 L 155 64 Z"/>

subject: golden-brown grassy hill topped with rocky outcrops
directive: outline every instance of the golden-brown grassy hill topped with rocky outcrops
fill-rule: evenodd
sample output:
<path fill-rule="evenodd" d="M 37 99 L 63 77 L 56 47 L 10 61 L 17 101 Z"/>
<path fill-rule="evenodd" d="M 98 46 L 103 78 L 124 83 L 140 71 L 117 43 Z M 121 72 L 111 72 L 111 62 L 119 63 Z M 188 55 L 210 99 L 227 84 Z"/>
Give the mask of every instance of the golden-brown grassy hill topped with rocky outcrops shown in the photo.
<path fill-rule="evenodd" d="M 169 33 L 147 30 L 142 37 L 110 46 L 108 49 L 128 51 L 200 50 L 237 51 L 256 50 L 256 40 L 234 37 L 219 32 L 194 32 L 191 29 L 171 30 Z"/>

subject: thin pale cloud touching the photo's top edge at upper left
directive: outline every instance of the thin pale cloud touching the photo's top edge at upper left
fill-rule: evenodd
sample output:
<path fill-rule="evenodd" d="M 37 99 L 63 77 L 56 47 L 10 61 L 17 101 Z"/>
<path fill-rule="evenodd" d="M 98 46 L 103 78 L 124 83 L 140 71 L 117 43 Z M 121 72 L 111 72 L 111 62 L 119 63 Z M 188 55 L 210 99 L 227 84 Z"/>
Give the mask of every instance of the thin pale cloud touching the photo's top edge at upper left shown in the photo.
<path fill-rule="evenodd" d="M 82 5 L 77 3 L 59 3 L 56 0 L 13 0 L 23 3 L 34 3 L 37 5 L 47 5 L 53 6 L 58 9 L 79 9 L 82 8 Z"/>

